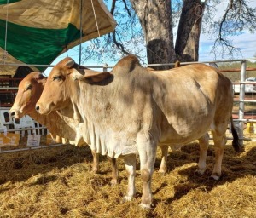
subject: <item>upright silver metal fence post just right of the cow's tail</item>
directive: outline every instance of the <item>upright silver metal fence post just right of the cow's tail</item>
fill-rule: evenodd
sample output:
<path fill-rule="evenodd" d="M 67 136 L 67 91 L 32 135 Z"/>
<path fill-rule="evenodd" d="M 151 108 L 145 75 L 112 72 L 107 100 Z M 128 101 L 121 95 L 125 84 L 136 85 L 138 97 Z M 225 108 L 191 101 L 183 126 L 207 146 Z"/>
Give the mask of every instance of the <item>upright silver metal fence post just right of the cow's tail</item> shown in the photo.
<path fill-rule="evenodd" d="M 241 77 L 240 82 L 245 82 L 246 80 L 246 69 L 247 69 L 247 60 L 241 61 Z M 240 84 L 240 95 L 239 95 L 239 138 L 241 140 L 241 145 L 243 145 L 243 129 L 244 129 L 244 98 L 245 98 L 245 84 Z"/>

